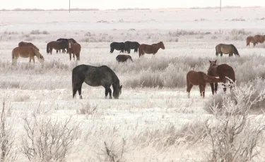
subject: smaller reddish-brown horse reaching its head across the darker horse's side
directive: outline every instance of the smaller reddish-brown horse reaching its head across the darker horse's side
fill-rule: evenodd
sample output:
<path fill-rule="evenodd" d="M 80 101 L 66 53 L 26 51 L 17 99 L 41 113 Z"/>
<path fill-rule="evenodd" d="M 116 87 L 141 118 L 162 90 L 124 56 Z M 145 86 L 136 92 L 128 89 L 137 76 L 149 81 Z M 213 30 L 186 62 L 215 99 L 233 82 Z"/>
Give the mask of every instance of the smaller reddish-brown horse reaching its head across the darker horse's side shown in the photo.
<path fill-rule="evenodd" d="M 204 72 L 194 70 L 187 73 L 187 93 L 190 96 L 193 85 L 199 85 L 201 96 L 205 96 L 206 83 L 220 82 L 218 77 L 209 76 Z"/>

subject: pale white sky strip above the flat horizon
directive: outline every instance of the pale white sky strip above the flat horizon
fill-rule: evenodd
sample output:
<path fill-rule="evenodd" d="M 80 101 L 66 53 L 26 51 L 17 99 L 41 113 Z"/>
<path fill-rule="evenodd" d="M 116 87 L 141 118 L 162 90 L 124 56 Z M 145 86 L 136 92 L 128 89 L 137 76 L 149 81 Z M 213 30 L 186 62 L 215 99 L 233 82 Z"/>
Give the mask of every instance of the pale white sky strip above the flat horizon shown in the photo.
<path fill-rule="evenodd" d="M 219 6 L 220 0 L 71 0 L 71 8 L 189 8 Z M 265 6 L 265 0 L 222 0 L 223 6 Z M 69 0 L 5 0 L 1 7 L 69 8 Z"/>

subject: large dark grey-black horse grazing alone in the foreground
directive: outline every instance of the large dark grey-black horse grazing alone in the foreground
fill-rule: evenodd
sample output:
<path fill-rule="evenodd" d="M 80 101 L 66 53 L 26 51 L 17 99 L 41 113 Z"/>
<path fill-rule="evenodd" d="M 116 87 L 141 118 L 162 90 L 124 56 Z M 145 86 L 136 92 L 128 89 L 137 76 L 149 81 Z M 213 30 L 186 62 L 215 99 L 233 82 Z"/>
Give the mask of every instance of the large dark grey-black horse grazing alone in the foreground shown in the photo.
<path fill-rule="evenodd" d="M 73 88 L 73 97 L 78 91 L 80 99 L 82 99 L 81 90 L 82 84 L 86 84 L 99 87 L 105 87 L 105 98 L 110 94 L 110 99 L 112 99 L 112 89 L 113 87 L 113 96 L 114 99 L 119 99 L 119 94 L 122 94 L 122 85 L 119 85 L 119 78 L 117 75 L 107 66 L 87 66 L 80 65 L 73 68 L 72 72 L 72 88 Z"/>

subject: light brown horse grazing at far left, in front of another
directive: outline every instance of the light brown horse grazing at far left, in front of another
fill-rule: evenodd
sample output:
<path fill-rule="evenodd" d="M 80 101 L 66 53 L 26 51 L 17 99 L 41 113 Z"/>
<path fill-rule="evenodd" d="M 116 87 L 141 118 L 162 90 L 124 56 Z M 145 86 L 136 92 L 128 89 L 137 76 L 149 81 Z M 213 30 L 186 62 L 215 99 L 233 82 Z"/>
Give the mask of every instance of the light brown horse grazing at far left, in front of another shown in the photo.
<path fill-rule="evenodd" d="M 34 56 L 37 56 L 37 59 L 40 61 L 40 63 L 42 63 L 45 60 L 43 56 L 40 54 L 40 52 L 37 51 L 37 49 L 33 48 L 32 46 L 16 47 L 12 51 L 12 61 L 15 61 L 15 59 L 17 60 L 18 57 L 22 58 L 29 57 L 30 62 L 31 60 L 33 60 L 33 63 L 35 63 Z"/>

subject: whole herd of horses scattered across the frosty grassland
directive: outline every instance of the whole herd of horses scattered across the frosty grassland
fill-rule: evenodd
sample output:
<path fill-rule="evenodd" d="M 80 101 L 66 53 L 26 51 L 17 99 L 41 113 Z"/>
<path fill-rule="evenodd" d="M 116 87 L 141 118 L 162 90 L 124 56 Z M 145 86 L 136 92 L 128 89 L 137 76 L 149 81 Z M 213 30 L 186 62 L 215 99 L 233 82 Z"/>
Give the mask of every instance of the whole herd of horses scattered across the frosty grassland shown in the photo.
<path fill-rule="evenodd" d="M 247 46 L 252 42 L 254 46 L 258 43 L 265 42 L 264 35 L 255 35 L 254 37 L 247 37 Z M 81 45 L 76 42 L 74 39 L 64 39 L 60 38 L 56 41 L 52 41 L 47 43 L 47 54 L 52 54 L 52 50 L 56 50 L 62 53 L 68 53 L 71 61 L 71 54 L 73 54 L 73 59 L 79 61 L 80 60 L 80 52 Z M 139 42 L 112 42 L 110 44 L 110 53 L 113 53 L 114 50 L 120 51 L 120 53 L 127 52 L 130 54 L 131 49 L 134 49 L 134 52 L 139 53 L 139 58 L 144 54 L 153 54 L 155 55 L 159 49 L 165 49 L 165 45 L 163 42 L 158 42 L 157 44 L 139 44 Z M 232 56 L 240 56 L 237 48 L 233 44 L 218 44 L 216 45 L 216 56 L 223 56 L 223 54 L 228 54 Z M 33 60 L 35 63 L 35 56 L 40 62 L 45 61 L 42 54 L 40 54 L 39 49 L 33 43 L 30 42 L 20 42 L 18 47 L 13 49 L 12 51 L 12 60 L 18 59 L 18 57 L 22 58 L 30 58 L 30 62 Z M 131 56 L 125 54 L 119 54 L 116 57 L 118 62 L 126 62 L 128 60 L 133 61 Z M 86 84 L 98 87 L 105 87 L 105 97 L 110 96 L 112 99 L 112 95 L 114 99 L 119 99 L 119 94 L 122 93 L 122 85 L 119 84 L 119 78 L 114 73 L 112 69 L 107 66 L 88 66 L 88 65 L 80 65 L 76 66 L 72 70 L 72 90 L 73 97 L 78 94 L 80 99 L 82 99 L 81 89 L 83 82 Z M 216 61 L 210 61 L 210 66 L 208 68 L 208 73 L 204 73 L 202 71 L 196 72 L 194 70 L 189 71 L 187 73 L 187 93 L 188 97 L 193 85 L 199 85 L 201 96 L 205 96 L 205 88 L 206 84 L 209 83 L 211 85 L 212 94 L 215 94 L 218 90 L 218 82 L 223 83 L 223 91 L 226 91 L 227 87 L 234 87 L 235 84 L 235 71 L 228 64 L 218 65 Z M 228 84 L 226 84 L 228 82 Z M 113 93 L 110 87 L 113 87 Z"/>

